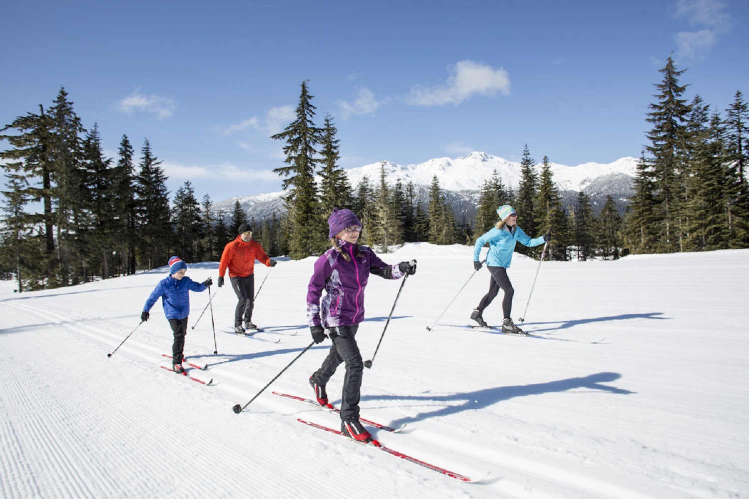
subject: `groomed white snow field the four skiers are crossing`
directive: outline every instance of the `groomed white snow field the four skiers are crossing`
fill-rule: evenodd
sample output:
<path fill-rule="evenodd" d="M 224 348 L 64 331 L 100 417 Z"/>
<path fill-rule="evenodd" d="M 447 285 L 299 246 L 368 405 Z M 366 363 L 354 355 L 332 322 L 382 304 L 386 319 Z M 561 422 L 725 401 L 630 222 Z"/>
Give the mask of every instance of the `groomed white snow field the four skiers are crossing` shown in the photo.
<path fill-rule="evenodd" d="M 309 396 L 330 343 L 312 346 L 313 258 L 281 259 L 253 316 L 265 340 L 224 332 L 234 293 L 213 296 L 186 352 L 202 386 L 159 368 L 171 334 L 142 304 L 166 269 L 22 295 L 0 288 L 2 498 L 747 498 L 749 251 L 544 262 L 515 255 L 513 316 L 586 344 L 437 325 L 469 322 L 488 287 L 471 249 L 407 245 L 404 284 L 372 369 L 363 417 L 389 447 L 488 478 L 465 484 L 298 423 L 336 416 L 270 392 Z M 217 263 L 189 265 L 195 280 Z M 399 281 L 373 277 L 358 339 L 372 358 Z M 463 288 L 461 290 L 461 287 Z M 207 305 L 192 293 L 191 323 Z M 441 318 L 437 318 L 442 314 Z M 500 320 L 497 299 L 485 313 Z M 136 328 L 136 326 L 138 326 Z M 132 335 L 112 352 L 128 334 Z M 279 340 L 279 343 L 273 341 Z M 214 349 L 218 353 L 213 354 Z M 193 370 L 193 373 L 195 371 Z M 329 394 L 339 402 L 343 368 Z"/>

